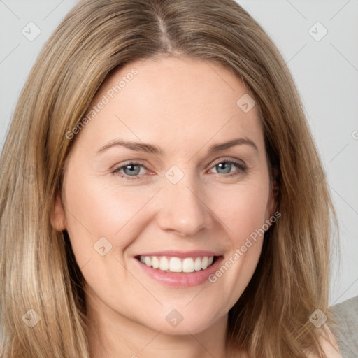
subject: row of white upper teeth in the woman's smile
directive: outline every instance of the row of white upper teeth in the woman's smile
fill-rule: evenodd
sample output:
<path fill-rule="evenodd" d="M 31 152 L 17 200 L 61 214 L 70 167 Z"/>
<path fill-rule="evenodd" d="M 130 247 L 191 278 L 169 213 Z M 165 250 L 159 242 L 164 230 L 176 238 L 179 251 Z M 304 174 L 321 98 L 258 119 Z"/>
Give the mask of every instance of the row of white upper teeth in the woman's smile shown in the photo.
<path fill-rule="evenodd" d="M 159 268 L 162 271 L 171 272 L 194 272 L 205 270 L 208 266 L 213 264 L 213 256 L 203 257 L 186 257 L 180 259 L 179 257 L 166 257 L 166 256 L 141 256 L 141 262 L 152 268 Z"/>

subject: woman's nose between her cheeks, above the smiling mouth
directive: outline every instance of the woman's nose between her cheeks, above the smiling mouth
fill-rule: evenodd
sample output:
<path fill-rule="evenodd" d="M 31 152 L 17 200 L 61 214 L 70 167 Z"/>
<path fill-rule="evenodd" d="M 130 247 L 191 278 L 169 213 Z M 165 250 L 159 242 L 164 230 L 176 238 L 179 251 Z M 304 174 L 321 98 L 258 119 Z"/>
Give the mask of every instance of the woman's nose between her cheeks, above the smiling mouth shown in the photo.
<path fill-rule="evenodd" d="M 181 236 L 194 236 L 213 226 L 213 210 L 200 183 L 182 178 L 177 184 L 166 182 L 162 206 L 157 213 L 159 227 Z"/>

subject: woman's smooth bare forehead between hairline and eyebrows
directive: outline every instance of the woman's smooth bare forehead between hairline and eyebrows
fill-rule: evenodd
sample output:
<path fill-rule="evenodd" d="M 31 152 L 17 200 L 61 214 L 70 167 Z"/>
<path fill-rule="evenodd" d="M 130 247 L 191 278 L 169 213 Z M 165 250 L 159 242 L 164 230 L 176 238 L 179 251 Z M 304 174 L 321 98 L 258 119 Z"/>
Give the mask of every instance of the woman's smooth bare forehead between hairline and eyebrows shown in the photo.
<path fill-rule="evenodd" d="M 243 97 L 244 96 L 244 97 Z M 146 59 L 117 69 L 101 85 L 85 127 L 93 143 L 116 136 L 163 145 L 203 145 L 210 138 L 262 137 L 248 89 L 229 69 L 199 59 Z M 101 109 L 98 110 L 99 103 Z M 248 103 L 249 106 L 252 103 Z"/>

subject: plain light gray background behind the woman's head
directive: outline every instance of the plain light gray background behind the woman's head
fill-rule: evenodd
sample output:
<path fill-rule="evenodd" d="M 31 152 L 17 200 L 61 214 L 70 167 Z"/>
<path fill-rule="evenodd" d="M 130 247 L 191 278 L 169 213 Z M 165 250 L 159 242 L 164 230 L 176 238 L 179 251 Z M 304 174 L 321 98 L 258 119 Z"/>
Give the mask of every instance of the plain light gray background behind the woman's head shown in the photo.
<path fill-rule="evenodd" d="M 38 52 L 75 3 L 0 0 L 0 150 Z M 329 302 L 345 301 L 358 295 L 358 0 L 238 3 L 278 45 L 301 93 L 341 231 L 341 260 L 332 262 Z M 22 34 L 29 22 L 41 29 L 34 41 Z M 324 28 L 327 35 L 317 41 Z"/>

